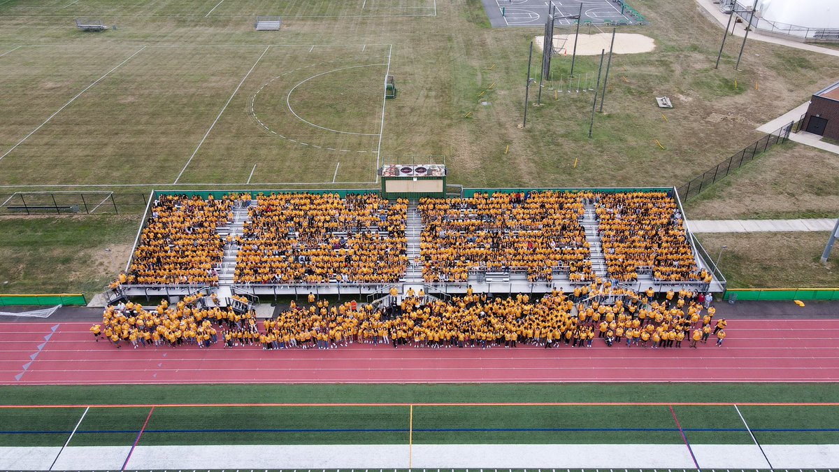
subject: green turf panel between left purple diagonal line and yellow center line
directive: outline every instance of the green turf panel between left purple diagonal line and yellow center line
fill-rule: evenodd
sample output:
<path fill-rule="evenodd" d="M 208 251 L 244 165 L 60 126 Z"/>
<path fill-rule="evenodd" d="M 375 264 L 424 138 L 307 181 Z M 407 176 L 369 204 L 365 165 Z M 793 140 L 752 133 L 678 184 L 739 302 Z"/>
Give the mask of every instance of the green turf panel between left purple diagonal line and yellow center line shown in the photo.
<path fill-rule="evenodd" d="M 408 443 L 407 407 L 158 408 L 140 443 L 401 444 Z M 195 433 L 177 430 L 249 430 Z M 397 430 L 397 431 L 352 431 Z M 258 432 L 253 430 L 272 430 Z M 351 430 L 351 431 L 330 431 Z"/>

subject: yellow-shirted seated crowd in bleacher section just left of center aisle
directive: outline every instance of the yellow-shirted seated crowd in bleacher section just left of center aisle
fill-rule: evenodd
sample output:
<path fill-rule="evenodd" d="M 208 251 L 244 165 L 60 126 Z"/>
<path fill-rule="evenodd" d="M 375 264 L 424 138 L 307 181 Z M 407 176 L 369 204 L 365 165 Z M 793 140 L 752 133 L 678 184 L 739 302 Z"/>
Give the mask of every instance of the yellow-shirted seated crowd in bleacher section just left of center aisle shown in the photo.
<path fill-rule="evenodd" d="M 372 193 L 256 199 L 236 241 L 237 283 L 389 283 L 404 276 L 408 201 Z"/>

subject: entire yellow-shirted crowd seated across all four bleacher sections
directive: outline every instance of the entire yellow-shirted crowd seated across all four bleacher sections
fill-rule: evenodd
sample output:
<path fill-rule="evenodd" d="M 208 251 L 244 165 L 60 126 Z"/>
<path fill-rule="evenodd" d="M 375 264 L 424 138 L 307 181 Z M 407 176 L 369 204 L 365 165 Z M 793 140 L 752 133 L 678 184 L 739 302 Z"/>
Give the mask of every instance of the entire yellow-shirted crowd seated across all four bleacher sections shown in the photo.
<path fill-rule="evenodd" d="M 255 200 L 256 204 L 252 202 Z M 249 207 L 244 233 L 221 238 L 234 202 Z M 409 264 L 426 282 L 465 282 L 471 271 L 525 271 L 529 281 L 592 281 L 581 220 L 594 208 L 608 277 L 701 281 L 712 275 L 695 254 L 666 192 L 527 191 L 421 198 L 420 257 L 408 260 L 409 202 L 374 193 L 248 193 L 214 198 L 162 195 L 142 230 L 120 284 L 216 286 L 226 247 L 237 250 L 239 284 L 398 282 Z"/>

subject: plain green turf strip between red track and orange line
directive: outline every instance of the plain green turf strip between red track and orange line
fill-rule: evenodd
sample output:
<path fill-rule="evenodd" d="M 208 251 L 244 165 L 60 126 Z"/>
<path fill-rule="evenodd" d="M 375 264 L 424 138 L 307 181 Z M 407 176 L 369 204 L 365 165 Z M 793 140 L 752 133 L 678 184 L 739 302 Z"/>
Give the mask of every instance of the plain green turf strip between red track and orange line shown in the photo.
<path fill-rule="evenodd" d="M 0 404 L 265 402 L 839 401 L 836 384 L 419 384 L 0 386 Z"/>

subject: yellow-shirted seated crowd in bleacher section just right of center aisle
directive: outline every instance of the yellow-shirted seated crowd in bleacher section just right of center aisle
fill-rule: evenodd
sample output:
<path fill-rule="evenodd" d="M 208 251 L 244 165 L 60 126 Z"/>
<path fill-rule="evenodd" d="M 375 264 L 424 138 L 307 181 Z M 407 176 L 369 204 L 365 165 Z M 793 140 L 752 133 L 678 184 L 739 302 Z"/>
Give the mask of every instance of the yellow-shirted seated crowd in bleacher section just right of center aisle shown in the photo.
<path fill-rule="evenodd" d="M 427 282 L 466 281 L 471 269 L 527 270 L 552 281 L 555 267 L 589 281 L 591 253 L 579 220 L 591 192 L 529 191 L 422 198 L 420 251 Z"/>

